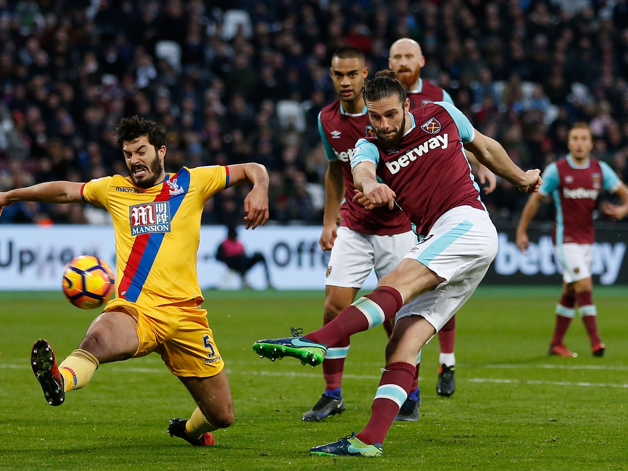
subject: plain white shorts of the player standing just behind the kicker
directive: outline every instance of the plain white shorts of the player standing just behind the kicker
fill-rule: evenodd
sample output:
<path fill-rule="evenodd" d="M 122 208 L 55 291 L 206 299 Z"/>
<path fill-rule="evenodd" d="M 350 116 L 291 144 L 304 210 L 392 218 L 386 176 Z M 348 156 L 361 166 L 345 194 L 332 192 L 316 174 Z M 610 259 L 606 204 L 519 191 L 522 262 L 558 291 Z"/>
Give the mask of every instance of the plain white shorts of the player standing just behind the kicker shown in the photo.
<path fill-rule="evenodd" d="M 325 284 L 362 288 L 372 269 L 378 279 L 386 276 L 414 244 L 416 235 L 411 230 L 393 236 L 374 236 L 340 226 L 329 257 Z"/>

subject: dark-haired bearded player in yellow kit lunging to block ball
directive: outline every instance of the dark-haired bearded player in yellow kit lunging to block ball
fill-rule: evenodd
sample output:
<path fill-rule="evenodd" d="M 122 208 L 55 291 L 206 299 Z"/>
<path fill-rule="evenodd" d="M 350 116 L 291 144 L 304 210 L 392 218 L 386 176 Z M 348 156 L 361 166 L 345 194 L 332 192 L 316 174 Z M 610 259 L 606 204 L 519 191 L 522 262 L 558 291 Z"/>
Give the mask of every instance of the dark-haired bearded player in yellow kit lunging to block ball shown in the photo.
<path fill-rule="evenodd" d="M 31 366 L 46 401 L 59 406 L 67 391 L 87 385 L 100 363 L 158 352 L 198 404 L 189 420 L 170 421 L 170 435 L 213 445 L 211 432 L 230 426 L 234 413 L 224 362 L 201 307 L 196 271 L 201 213 L 220 190 L 252 183 L 244 200 L 246 228 L 263 225 L 268 173 L 256 163 L 165 173 L 164 126 L 136 116 L 122 119 L 116 132 L 130 176 L 51 181 L 0 193 L 0 214 L 16 201 L 85 201 L 107 208 L 114 222 L 115 298 L 58 367 L 45 340 L 33 345 Z"/>

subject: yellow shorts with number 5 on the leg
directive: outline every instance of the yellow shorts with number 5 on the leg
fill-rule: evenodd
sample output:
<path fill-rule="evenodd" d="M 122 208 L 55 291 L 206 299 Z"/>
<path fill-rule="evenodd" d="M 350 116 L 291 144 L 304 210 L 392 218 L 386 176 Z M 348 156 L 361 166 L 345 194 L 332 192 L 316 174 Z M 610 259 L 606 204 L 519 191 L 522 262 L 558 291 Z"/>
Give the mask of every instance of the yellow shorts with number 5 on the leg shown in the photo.
<path fill-rule="evenodd" d="M 143 306 L 116 298 L 104 311 L 124 311 L 138 321 L 139 347 L 134 358 L 157 352 L 176 376 L 215 376 L 225 367 L 207 323 L 207 311 L 195 300 Z"/>

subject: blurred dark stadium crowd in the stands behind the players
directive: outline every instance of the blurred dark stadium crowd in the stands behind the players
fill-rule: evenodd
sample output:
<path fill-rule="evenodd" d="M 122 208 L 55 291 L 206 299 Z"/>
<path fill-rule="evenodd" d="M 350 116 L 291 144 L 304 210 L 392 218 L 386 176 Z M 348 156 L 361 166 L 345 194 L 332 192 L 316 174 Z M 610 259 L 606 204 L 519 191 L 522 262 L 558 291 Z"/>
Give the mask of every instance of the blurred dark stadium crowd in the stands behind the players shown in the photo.
<path fill-rule="evenodd" d="M 168 126 L 166 170 L 263 163 L 271 218 L 320 223 L 330 57 L 357 46 L 372 76 L 406 36 L 421 77 L 523 168 L 564 156 L 587 121 L 595 156 L 628 178 L 626 0 L 0 0 L 0 190 L 127 175 L 112 131 L 139 114 Z M 203 223 L 239 222 L 245 194 L 220 193 Z M 501 182 L 483 199 L 499 222 L 526 197 Z M 106 221 L 16 203 L 0 223 Z"/>

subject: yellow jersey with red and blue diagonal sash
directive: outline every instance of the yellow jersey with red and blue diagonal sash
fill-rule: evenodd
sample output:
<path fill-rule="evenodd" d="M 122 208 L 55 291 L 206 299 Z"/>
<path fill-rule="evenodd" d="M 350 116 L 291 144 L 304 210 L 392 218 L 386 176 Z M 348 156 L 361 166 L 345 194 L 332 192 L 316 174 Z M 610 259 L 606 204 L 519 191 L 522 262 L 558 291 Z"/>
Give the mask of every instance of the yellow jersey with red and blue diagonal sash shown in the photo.
<path fill-rule="evenodd" d="M 229 167 L 183 167 L 151 188 L 130 177 L 85 183 L 88 203 L 109 210 L 116 234 L 116 298 L 161 306 L 203 296 L 197 250 L 205 202 L 229 186 Z"/>

